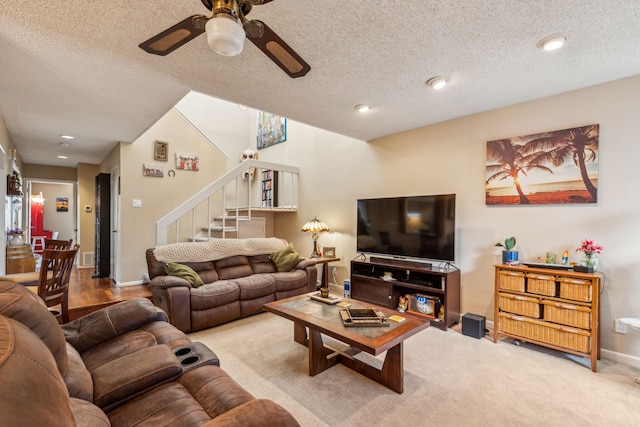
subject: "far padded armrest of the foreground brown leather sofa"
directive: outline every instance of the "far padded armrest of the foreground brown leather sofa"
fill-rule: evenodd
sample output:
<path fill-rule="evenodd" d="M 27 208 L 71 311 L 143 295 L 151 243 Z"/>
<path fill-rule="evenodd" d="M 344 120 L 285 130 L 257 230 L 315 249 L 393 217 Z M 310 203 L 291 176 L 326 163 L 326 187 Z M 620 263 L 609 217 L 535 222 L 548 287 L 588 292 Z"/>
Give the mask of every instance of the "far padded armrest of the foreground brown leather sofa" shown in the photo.
<path fill-rule="evenodd" d="M 65 339 L 80 353 L 126 332 L 162 319 L 147 298 L 134 298 L 94 311 L 62 325 Z"/>

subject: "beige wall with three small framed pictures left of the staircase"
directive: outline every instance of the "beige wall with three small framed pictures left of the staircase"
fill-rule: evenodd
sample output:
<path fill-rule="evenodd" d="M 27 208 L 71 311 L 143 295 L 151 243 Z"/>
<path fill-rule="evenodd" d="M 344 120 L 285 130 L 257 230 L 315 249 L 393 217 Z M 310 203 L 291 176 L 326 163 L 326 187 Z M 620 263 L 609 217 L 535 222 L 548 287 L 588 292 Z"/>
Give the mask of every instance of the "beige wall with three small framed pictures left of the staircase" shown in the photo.
<path fill-rule="evenodd" d="M 153 160 L 156 140 L 169 143 L 169 161 Z M 176 151 L 199 154 L 200 170 L 178 170 L 175 161 Z M 224 174 L 227 170 L 227 160 L 173 109 L 134 143 L 120 144 L 119 158 L 119 282 L 127 283 L 140 281 L 147 274 L 144 253 L 145 249 L 155 246 L 155 222 Z M 163 166 L 164 177 L 143 176 L 143 163 Z M 170 170 L 175 171 L 175 177 L 168 176 Z M 108 172 L 104 170 L 104 165 L 103 172 Z M 141 208 L 132 207 L 134 199 L 142 201 Z M 187 226 L 190 226 L 190 223 Z"/>

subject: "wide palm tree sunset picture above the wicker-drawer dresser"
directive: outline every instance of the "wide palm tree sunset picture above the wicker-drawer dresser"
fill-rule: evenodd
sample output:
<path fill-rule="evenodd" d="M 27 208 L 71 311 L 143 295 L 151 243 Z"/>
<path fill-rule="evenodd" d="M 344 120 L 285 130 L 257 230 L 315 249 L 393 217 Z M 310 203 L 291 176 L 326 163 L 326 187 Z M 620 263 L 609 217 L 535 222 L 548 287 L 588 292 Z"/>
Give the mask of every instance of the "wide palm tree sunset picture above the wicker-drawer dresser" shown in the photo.
<path fill-rule="evenodd" d="M 596 203 L 599 125 L 487 142 L 487 205 Z"/>

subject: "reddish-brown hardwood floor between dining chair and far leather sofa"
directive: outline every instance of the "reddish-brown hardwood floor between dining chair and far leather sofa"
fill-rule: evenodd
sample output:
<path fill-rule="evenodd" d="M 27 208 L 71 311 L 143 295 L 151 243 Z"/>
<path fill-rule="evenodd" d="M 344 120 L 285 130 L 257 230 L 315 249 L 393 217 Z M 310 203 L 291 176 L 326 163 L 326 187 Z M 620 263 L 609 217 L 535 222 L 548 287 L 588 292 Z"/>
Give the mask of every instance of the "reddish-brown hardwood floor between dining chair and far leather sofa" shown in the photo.
<path fill-rule="evenodd" d="M 109 278 L 91 277 L 92 269 L 74 268 L 69 280 L 69 318 L 89 314 L 111 304 L 136 297 L 151 299 L 148 285 L 116 286 Z"/>

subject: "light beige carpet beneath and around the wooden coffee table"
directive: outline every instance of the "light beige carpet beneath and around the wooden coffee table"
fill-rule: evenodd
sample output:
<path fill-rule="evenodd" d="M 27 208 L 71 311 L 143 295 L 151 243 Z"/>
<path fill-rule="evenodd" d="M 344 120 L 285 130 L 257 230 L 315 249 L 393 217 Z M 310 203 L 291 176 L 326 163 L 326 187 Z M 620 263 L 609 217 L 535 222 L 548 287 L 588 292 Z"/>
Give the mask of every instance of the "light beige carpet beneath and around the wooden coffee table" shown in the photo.
<path fill-rule="evenodd" d="M 603 359 L 593 373 L 586 359 L 508 339 L 422 331 L 405 341 L 405 391 L 397 394 L 341 365 L 310 377 L 292 322 L 271 313 L 190 337 L 303 426 L 640 425 L 638 370 Z"/>

